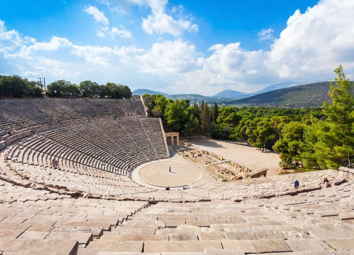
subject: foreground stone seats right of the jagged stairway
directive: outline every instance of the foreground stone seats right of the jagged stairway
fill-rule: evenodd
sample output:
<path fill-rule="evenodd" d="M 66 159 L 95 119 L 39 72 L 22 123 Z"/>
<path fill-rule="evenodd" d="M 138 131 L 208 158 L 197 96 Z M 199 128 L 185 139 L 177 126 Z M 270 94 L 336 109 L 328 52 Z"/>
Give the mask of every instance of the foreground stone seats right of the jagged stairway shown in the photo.
<path fill-rule="evenodd" d="M 78 254 L 351 255 L 353 199 L 350 181 L 241 203 L 158 203 L 80 247 Z"/>

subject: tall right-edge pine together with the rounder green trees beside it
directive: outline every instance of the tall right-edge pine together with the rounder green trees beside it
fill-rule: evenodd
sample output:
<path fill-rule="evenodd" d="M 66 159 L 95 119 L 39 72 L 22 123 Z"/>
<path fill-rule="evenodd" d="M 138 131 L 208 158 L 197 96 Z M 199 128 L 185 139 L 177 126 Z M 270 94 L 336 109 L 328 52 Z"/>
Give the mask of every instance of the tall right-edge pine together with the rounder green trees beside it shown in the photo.
<path fill-rule="evenodd" d="M 324 102 L 323 119 L 305 118 L 289 123 L 273 146 L 284 166 L 301 164 L 306 168 L 336 169 L 354 156 L 354 85 L 343 67 L 328 92 L 332 102 Z"/>

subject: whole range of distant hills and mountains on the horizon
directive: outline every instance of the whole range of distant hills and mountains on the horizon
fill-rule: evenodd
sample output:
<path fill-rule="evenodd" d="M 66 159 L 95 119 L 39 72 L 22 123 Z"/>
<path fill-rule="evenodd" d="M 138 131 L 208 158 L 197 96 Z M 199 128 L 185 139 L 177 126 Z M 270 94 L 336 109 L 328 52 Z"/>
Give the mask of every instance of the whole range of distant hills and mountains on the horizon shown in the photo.
<path fill-rule="evenodd" d="M 162 94 L 171 99 L 187 99 L 191 102 L 209 103 L 217 102 L 219 104 L 236 106 L 284 106 L 284 107 L 314 107 L 321 106 L 324 101 L 330 102 L 328 90 L 329 82 L 315 82 L 305 85 L 297 85 L 302 82 L 286 81 L 272 84 L 256 93 L 243 93 L 235 90 L 224 90 L 218 94 L 207 97 L 198 94 L 177 94 L 169 95 L 159 91 L 148 89 L 134 90 L 134 95 L 143 95 L 145 93 Z"/>

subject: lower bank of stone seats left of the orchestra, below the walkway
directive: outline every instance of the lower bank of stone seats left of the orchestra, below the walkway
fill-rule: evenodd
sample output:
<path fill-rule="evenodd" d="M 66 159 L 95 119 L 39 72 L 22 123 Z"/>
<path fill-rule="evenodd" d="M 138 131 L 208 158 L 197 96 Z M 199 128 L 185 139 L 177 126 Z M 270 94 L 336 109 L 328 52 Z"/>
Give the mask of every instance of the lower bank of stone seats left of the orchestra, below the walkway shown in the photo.
<path fill-rule="evenodd" d="M 158 124 L 156 119 L 146 119 L 148 122 Z M 166 150 L 154 148 L 156 144 L 164 146 L 161 127 L 148 132 L 149 136 L 139 119 L 63 127 L 18 142 L 7 157 L 16 163 L 45 167 L 55 159 L 65 170 L 88 168 L 129 176 L 137 165 L 168 157 Z"/>

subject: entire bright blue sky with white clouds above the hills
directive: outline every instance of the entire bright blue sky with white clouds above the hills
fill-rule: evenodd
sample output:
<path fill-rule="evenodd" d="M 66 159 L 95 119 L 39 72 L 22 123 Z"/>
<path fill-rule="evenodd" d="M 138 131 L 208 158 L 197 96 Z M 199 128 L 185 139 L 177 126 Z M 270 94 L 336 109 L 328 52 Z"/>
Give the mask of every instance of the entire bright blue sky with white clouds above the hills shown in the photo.
<path fill-rule="evenodd" d="M 354 68 L 354 1 L 0 2 L 0 74 L 213 95 Z"/>

